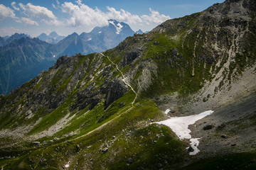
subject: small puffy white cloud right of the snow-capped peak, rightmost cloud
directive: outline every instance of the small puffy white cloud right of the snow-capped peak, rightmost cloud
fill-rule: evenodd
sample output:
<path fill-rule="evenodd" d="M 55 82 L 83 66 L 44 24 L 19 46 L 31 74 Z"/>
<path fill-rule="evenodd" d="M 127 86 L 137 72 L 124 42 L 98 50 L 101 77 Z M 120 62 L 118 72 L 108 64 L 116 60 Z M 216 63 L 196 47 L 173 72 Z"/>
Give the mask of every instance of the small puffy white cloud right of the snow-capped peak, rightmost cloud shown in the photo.
<path fill-rule="evenodd" d="M 160 24 L 163 23 L 166 20 L 171 19 L 170 16 L 165 16 L 164 14 L 161 14 L 158 11 L 154 11 L 153 9 L 149 8 L 149 11 L 151 12 L 149 15 L 143 15 L 142 19 L 146 23 L 156 23 Z"/>

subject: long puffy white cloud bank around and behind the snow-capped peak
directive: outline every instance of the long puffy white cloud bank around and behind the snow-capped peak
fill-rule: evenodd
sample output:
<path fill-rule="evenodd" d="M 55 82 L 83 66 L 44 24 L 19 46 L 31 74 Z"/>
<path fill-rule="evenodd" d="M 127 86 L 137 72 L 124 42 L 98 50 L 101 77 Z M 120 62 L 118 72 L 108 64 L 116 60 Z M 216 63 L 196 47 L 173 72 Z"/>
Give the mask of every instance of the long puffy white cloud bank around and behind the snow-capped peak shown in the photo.
<path fill-rule="evenodd" d="M 149 8 L 150 13 L 148 15 L 134 15 L 125 11 L 124 9 L 116 10 L 113 7 L 107 6 L 107 12 L 102 12 L 100 9 L 90 8 L 89 6 L 82 4 L 81 0 L 75 1 L 76 4 L 72 2 L 64 2 L 62 4 L 62 11 L 69 14 L 67 23 L 69 26 L 87 26 L 94 28 L 95 26 L 107 26 L 108 20 L 114 19 L 120 22 L 128 23 L 130 26 L 138 26 L 150 30 L 160 23 L 170 19 L 169 16 L 160 14 L 158 11 L 154 11 Z"/>

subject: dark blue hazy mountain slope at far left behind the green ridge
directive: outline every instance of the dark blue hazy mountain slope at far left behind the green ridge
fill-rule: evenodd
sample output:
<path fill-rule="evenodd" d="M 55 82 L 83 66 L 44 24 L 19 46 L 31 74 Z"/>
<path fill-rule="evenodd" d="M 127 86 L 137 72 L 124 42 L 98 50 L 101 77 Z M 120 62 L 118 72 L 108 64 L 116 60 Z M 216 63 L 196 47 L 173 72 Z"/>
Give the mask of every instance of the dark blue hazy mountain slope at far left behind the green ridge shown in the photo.
<path fill-rule="evenodd" d="M 7 94 L 36 77 L 43 69 L 48 69 L 55 59 L 46 51 L 47 48 L 48 43 L 28 37 L 0 47 L 0 94 Z"/>

